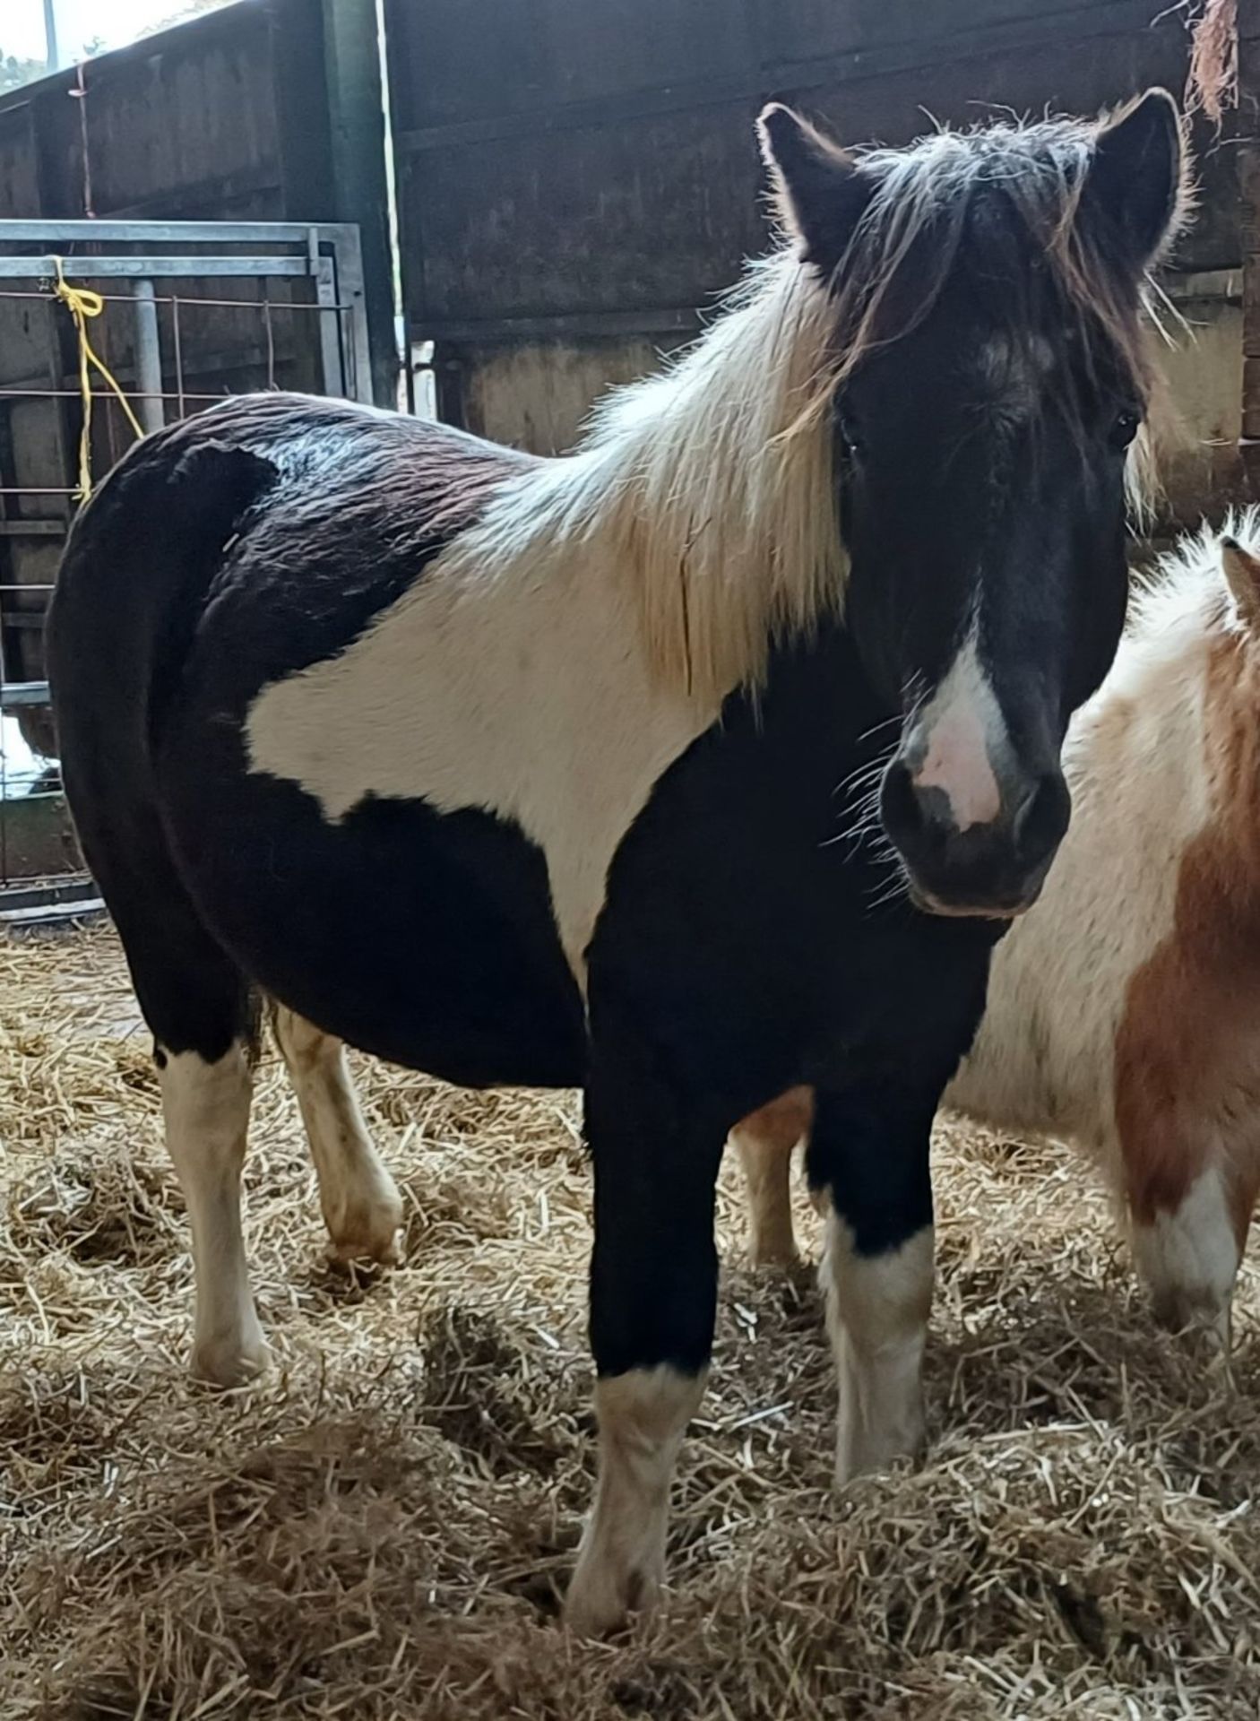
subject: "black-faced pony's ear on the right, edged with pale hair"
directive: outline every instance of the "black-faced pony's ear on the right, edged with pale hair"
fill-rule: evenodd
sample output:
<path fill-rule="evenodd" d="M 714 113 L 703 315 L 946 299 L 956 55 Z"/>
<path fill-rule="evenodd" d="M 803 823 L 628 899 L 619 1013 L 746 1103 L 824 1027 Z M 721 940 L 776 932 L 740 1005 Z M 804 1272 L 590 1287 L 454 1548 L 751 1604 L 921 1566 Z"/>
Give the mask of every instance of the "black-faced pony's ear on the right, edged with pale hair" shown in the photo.
<path fill-rule="evenodd" d="M 1148 89 L 1098 129 L 1083 207 L 1102 213 L 1124 262 L 1148 268 L 1176 237 L 1189 203 L 1177 103 Z"/>

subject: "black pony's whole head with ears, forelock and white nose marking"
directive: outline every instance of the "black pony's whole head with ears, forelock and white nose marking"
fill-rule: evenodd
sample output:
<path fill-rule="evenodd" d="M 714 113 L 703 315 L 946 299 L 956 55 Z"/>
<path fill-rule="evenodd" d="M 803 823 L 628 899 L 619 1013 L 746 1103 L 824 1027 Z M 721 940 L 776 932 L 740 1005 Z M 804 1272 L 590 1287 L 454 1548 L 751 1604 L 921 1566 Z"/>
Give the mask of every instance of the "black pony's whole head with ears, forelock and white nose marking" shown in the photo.
<path fill-rule="evenodd" d="M 850 155 L 761 117 L 835 312 L 845 621 L 902 714 L 880 812 L 914 898 L 1016 914 L 1067 828 L 1059 750 L 1126 606 L 1148 267 L 1186 196 L 1177 110 Z"/>

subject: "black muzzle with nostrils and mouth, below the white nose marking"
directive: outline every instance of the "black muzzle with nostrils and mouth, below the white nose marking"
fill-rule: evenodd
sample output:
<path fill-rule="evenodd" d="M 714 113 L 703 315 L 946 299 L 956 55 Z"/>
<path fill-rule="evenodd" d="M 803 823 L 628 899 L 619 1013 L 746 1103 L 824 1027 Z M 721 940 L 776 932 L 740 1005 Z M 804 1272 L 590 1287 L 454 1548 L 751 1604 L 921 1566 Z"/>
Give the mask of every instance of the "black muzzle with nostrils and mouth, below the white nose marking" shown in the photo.
<path fill-rule="evenodd" d="M 1007 919 L 1029 909 L 1067 830 L 1071 797 L 1059 766 L 995 773 L 993 814 L 959 817 L 957 800 L 899 756 L 880 792 L 883 828 L 917 907 Z"/>

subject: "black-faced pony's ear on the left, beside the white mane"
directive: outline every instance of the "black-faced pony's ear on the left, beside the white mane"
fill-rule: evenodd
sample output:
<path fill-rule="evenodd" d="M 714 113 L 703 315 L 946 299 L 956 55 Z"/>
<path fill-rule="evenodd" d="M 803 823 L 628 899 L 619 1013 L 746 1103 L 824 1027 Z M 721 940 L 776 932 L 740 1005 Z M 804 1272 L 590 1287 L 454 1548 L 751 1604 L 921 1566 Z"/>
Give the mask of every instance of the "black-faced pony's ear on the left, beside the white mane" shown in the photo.
<path fill-rule="evenodd" d="M 799 239 L 804 260 L 830 279 L 869 196 L 857 163 L 781 102 L 761 110 L 757 133 L 780 219 Z"/>

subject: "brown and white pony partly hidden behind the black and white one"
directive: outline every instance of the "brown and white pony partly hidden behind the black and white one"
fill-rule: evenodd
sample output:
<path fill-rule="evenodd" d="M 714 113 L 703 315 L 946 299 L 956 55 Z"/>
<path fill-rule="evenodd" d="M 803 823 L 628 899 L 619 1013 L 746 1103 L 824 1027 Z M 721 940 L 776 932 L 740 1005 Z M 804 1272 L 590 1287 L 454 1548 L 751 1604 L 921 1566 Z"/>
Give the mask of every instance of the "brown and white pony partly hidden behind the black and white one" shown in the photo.
<path fill-rule="evenodd" d="M 1158 1318 L 1227 1344 L 1260 1194 L 1260 509 L 1164 558 L 1064 768 L 1071 830 L 945 1103 L 1079 1143 Z M 732 1132 L 756 1260 L 795 1255 L 811 1110 L 795 1088 Z"/>

